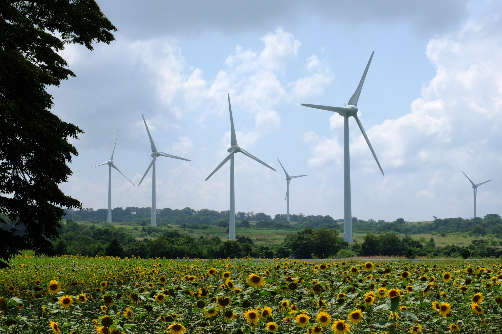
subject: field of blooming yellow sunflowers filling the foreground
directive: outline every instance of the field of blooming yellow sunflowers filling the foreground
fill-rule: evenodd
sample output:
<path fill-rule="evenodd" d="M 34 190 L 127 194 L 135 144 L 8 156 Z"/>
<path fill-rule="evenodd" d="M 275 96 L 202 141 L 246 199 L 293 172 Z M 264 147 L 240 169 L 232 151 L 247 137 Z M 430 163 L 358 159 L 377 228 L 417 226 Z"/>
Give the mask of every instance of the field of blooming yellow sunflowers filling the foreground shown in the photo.
<path fill-rule="evenodd" d="M 20 255 L 10 333 L 501 333 L 495 260 L 302 261 Z"/>

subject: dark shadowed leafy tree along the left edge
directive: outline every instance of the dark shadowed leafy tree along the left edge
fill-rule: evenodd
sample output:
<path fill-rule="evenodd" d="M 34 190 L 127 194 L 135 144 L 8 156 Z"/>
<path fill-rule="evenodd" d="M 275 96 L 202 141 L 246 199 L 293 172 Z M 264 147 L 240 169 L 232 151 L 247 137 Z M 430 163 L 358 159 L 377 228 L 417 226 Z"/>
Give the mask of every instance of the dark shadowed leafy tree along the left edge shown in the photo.
<path fill-rule="evenodd" d="M 94 0 L 6 0 L 0 17 L 0 212 L 15 223 L 0 228 L 7 262 L 23 248 L 54 254 L 48 239 L 59 236 L 62 208 L 81 208 L 58 185 L 78 154 L 68 139 L 83 131 L 50 112 L 46 87 L 75 76 L 58 53 L 65 44 L 92 50 L 93 42 L 109 44 L 116 28 Z"/>

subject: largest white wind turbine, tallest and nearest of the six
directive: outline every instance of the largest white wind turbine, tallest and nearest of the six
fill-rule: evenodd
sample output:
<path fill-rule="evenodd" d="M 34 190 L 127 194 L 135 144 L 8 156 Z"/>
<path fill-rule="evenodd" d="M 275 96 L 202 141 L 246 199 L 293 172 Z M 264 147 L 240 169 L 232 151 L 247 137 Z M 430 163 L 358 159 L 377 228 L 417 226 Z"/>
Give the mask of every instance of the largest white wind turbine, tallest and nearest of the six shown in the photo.
<path fill-rule="evenodd" d="M 373 154 L 376 164 L 378 164 L 382 175 L 384 175 L 384 171 L 382 170 L 382 166 L 380 166 L 380 162 L 376 158 L 376 154 L 373 151 L 373 147 L 369 143 L 368 136 L 364 131 L 361 121 L 357 117 L 357 101 L 359 100 L 359 95 L 361 94 L 362 84 L 364 83 L 364 79 L 366 78 L 366 73 L 368 72 L 369 64 L 371 63 L 371 59 L 373 58 L 373 51 L 371 53 L 371 57 L 369 57 L 368 64 L 366 65 L 366 69 L 364 69 L 364 73 L 362 74 L 361 81 L 359 81 L 359 86 L 355 90 L 354 94 L 350 100 L 348 100 L 348 105 L 346 107 L 330 107 L 325 105 L 316 105 L 316 104 L 304 104 L 303 106 L 310 108 L 317 108 L 323 110 L 334 111 L 343 116 L 343 238 L 352 242 L 352 206 L 350 200 L 350 154 L 349 154 L 349 142 L 348 142 L 348 118 L 353 116 L 357 125 L 361 129 L 362 135 L 366 142 L 368 143 L 369 149 Z"/>

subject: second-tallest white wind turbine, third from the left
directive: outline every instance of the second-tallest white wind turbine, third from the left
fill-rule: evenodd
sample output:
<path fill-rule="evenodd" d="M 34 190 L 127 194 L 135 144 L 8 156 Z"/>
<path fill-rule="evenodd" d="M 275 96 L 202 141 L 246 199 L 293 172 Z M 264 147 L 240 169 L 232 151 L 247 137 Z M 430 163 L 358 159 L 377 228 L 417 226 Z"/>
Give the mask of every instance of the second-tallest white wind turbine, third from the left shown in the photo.
<path fill-rule="evenodd" d="M 228 239 L 233 240 L 235 239 L 235 191 L 234 191 L 234 182 L 233 182 L 233 154 L 241 152 L 244 155 L 247 155 L 248 157 L 257 160 L 264 166 L 267 166 L 270 168 L 272 171 L 277 172 L 275 169 L 273 169 L 271 166 L 257 158 L 256 156 L 253 156 L 251 153 L 243 149 L 242 147 L 239 147 L 237 145 L 237 138 L 235 136 L 235 128 L 233 127 L 233 118 L 232 118 L 232 107 L 230 106 L 230 94 L 228 94 L 228 110 L 230 112 L 230 129 L 231 129 L 231 136 L 230 136 L 230 147 L 227 149 L 230 154 L 227 155 L 226 158 L 221 161 L 220 164 L 216 167 L 216 169 L 209 174 L 209 176 L 206 178 L 207 181 L 209 180 L 210 177 L 213 176 L 214 173 L 216 173 L 221 166 L 223 166 L 226 161 L 230 160 L 230 226 L 228 228 Z"/>

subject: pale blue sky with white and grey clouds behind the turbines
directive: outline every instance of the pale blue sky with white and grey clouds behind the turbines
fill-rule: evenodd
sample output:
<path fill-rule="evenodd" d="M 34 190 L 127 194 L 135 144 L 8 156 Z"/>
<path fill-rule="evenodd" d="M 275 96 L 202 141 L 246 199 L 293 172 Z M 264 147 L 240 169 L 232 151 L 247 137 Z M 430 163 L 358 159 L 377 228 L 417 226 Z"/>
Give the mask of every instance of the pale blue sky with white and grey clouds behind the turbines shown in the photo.
<path fill-rule="evenodd" d="M 239 146 L 235 210 L 343 217 L 343 106 L 374 51 L 358 116 L 380 173 L 349 120 L 352 216 L 428 221 L 501 213 L 502 8 L 495 1 L 98 1 L 110 45 L 61 51 L 76 78 L 49 87 L 52 111 L 85 133 L 60 185 L 106 208 L 110 158 L 135 185 L 159 151 L 157 208 L 229 208 L 227 94 Z M 112 171 L 112 207 L 151 206 L 152 174 L 135 187 Z"/>

